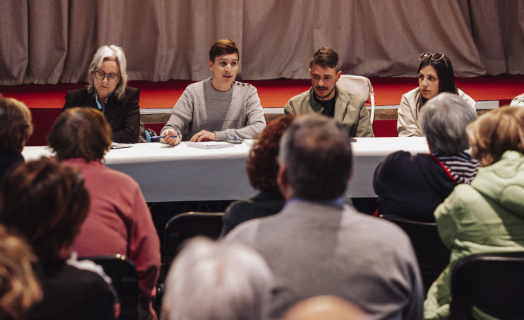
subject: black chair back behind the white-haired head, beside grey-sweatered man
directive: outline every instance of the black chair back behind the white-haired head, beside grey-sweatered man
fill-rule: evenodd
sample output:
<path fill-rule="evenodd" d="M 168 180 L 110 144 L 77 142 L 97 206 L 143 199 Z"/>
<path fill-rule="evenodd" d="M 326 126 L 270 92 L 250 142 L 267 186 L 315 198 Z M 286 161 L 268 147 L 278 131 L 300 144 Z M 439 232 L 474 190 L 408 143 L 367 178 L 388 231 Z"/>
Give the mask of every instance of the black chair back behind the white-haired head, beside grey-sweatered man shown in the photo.
<path fill-rule="evenodd" d="M 171 218 L 165 225 L 164 263 L 169 267 L 177 256 L 179 245 L 194 236 L 217 239 L 222 232 L 223 212 L 186 212 Z"/>

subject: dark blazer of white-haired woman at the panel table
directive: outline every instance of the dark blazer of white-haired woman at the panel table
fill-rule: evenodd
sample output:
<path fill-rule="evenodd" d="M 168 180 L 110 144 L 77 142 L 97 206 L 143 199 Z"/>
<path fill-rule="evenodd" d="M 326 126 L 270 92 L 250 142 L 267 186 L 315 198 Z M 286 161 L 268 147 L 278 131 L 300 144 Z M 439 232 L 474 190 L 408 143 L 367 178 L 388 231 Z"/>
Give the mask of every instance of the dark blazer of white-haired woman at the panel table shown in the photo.
<path fill-rule="evenodd" d="M 98 109 L 94 91 L 87 92 L 87 87 L 67 91 L 66 103 L 62 112 L 75 106 L 87 106 Z M 125 96 L 118 100 L 115 94 L 109 97 L 105 117 L 113 130 L 112 139 L 120 143 L 137 143 L 140 133 L 140 90 L 127 86 Z"/>

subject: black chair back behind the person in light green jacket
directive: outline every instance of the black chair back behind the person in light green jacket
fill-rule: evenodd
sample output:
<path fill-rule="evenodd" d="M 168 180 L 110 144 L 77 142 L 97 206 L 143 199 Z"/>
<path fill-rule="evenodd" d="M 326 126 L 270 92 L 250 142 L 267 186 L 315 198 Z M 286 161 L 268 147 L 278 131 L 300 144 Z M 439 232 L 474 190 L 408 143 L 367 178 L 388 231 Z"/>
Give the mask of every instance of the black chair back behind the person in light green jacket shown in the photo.
<path fill-rule="evenodd" d="M 524 252 L 479 254 L 451 274 L 451 319 L 473 319 L 471 307 L 498 319 L 524 319 Z"/>

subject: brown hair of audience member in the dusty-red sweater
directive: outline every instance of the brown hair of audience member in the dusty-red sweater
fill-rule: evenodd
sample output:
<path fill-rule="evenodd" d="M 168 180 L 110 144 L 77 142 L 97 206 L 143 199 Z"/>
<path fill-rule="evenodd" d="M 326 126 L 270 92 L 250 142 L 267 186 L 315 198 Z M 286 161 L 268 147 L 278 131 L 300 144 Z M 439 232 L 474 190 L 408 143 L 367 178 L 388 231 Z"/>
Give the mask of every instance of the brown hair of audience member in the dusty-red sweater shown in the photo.
<path fill-rule="evenodd" d="M 55 121 L 47 141 L 58 160 L 100 160 L 111 147 L 111 126 L 96 109 L 71 108 Z"/>

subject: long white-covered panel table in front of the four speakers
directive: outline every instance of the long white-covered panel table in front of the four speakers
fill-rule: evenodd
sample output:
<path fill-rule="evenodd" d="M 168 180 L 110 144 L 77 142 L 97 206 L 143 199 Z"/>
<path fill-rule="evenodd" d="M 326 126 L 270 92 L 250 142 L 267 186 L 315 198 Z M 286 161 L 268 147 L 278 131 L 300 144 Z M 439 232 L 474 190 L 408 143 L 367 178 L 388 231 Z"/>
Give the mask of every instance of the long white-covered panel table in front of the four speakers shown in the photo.
<path fill-rule="evenodd" d="M 352 198 L 374 197 L 374 169 L 388 154 L 397 150 L 428 152 L 426 138 L 357 138 L 352 142 L 353 178 L 347 188 Z M 111 149 L 105 164 L 132 176 L 147 202 L 234 200 L 255 194 L 246 175 L 248 144 L 232 148 L 198 149 L 187 142 L 170 147 L 161 143 L 134 144 Z M 26 160 L 52 156 L 47 147 L 25 147 Z"/>

